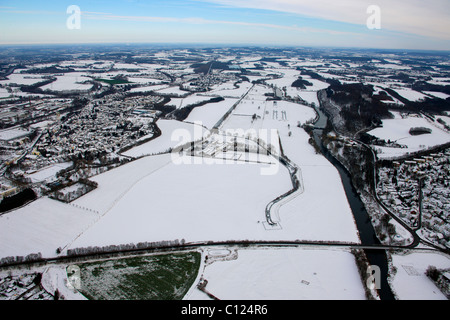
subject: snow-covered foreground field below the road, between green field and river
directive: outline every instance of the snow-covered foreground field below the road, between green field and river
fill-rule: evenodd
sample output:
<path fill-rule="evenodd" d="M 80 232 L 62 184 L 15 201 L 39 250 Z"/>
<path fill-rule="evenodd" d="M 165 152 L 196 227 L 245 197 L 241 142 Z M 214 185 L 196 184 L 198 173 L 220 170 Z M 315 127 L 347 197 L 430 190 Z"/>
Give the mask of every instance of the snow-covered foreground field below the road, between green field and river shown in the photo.
<path fill-rule="evenodd" d="M 217 252 L 217 249 L 214 249 Z M 332 249 L 237 250 L 208 254 L 206 290 L 221 300 L 364 300 L 354 256 Z M 201 272 L 202 272 L 201 271 Z M 192 290 L 185 300 L 208 300 Z"/>

